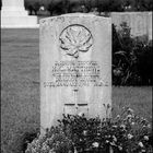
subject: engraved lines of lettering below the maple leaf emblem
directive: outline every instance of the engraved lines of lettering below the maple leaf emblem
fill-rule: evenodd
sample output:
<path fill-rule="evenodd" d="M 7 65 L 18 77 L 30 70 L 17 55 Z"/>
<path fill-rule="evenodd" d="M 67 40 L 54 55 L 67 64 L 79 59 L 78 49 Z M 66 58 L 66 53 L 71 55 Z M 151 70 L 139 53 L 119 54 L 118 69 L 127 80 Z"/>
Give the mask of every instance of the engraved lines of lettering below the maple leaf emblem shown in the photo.
<path fill-rule="evenodd" d="M 107 85 L 101 78 L 101 68 L 96 61 L 57 61 L 50 74 L 51 82 L 44 86 L 103 86 Z"/>

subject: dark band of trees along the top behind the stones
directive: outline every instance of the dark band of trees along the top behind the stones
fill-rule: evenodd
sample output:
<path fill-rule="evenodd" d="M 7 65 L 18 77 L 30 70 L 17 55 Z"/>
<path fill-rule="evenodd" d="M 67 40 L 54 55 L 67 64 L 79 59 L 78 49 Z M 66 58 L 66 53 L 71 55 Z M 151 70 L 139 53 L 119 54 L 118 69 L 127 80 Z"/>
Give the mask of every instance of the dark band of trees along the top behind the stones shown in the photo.
<path fill-rule="evenodd" d="M 25 0 L 25 8 L 37 15 L 40 7 L 52 14 L 71 12 L 152 11 L 152 0 Z"/>

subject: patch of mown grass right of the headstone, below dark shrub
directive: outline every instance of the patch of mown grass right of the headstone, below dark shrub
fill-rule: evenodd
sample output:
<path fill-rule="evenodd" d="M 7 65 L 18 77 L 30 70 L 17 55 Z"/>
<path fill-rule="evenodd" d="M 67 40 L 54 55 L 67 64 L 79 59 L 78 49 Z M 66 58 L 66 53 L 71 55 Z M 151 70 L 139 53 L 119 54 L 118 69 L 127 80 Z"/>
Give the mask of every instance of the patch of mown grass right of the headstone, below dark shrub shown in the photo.
<path fill-rule="evenodd" d="M 123 106 L 129 106 L 134 114 L 152 122 L 152 87 L 120 86 L 113 87 L 113 115 L 120 113 Z"/>

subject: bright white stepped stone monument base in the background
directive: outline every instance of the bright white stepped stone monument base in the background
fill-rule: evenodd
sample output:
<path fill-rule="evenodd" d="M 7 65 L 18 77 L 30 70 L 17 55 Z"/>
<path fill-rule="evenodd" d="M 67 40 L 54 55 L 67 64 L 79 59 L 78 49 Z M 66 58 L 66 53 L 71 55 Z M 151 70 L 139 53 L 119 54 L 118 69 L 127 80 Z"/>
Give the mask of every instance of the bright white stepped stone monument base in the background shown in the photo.
<path fill-rule="evenodd" d="M 37 17 L 28 16 L 24 0 L 2 0 L 1 27 L 38 27 Z"/>

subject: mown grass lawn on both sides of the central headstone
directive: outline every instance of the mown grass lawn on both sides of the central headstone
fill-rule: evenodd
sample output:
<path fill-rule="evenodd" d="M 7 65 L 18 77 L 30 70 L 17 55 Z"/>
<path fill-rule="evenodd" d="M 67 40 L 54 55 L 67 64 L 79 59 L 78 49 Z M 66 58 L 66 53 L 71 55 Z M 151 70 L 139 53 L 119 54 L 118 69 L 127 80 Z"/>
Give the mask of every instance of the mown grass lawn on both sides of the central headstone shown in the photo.
<path fill-rule="evenodd" d="M 39 128 L 38 30 L 1 31 L 1 144 L 21 153 L 25 132 Z M 152 120 L 152 87 L 113 87 L 114 115 L 130 106 Z"/>

